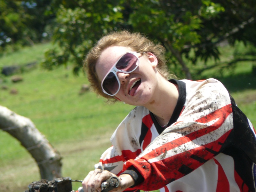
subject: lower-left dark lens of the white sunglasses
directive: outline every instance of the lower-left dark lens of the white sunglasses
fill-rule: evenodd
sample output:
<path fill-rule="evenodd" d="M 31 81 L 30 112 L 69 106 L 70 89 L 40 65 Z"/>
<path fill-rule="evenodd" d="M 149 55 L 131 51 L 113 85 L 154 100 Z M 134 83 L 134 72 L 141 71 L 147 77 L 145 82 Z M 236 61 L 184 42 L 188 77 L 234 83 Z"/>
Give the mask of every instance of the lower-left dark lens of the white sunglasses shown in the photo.
<path fill-rule="evenodd" d="M 102 88 L 110 95 L 113 95 L 117 92 L 119 87 L 116 76 L 113 72 L 110 72 L 108 76 L 103 81 Z"/>

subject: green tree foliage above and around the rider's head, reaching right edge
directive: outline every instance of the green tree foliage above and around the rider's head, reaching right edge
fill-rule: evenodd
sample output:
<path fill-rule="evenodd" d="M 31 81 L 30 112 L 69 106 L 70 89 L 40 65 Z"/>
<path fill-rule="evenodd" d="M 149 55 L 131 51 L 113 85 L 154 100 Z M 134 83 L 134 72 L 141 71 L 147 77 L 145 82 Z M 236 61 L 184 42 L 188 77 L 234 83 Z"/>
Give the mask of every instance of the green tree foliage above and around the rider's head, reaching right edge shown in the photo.
<path fill-rule="evenodd" d="M 32 2 L 31 0 L 30 4 Z M 218 61 L 221 42 L 234 45 L 237 41 L 241 41 L 256 46 L 255 0 L 35 0 L 34 2 L 44 2 L 42 10 L 46 23 L 47 17 L 55 18 L 54 27 L 51 29 L 53 41 L 60 46 L 60 49 L 51 49 L 45 53 L 43 66 L 48 69 L 67 65 L 68 61 L 71 61 L 77 74 L 84 55 L 92 45 L 102 35 L 120 29 L 140 32 L 153 41 L 162 43 L 166 48 L 166 56 L 170 58 L 168 64 L 181 69 L 183 76 L 190 79 L 191 68 L 188 67 L 187 62 L 196 67 L 199 59 L 205 63 L 212 58 Z M 36 9 L 38 8 L 36 6 Z M 35 16 L 36 9 L 30 9 L 34 13 L 26 12 L 26 14 Z M 20 25 L 23 26 L 22 23 Z M 43 26 L 41 31 L 45 30 L 47 25 Z M 252 60 L 255 60 L 255 57 Z"/>

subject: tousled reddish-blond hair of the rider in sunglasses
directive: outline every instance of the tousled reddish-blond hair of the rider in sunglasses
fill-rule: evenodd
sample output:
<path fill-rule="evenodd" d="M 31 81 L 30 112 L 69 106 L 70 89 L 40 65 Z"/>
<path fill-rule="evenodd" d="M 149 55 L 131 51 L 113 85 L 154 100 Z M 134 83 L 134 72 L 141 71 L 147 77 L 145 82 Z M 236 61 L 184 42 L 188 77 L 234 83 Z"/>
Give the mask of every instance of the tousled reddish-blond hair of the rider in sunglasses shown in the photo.
<path fill-rule="evenodd" d="M 110 46 L 124 46 L 129 47 L 134 52 L 151 52 L 157 60 L 157 70 L 164 77 L 169 78 L 170 74 L 166 66 L 165 49 L 161 44 L 156 44 L 149 40 L 146 36 L 140 33 L 130 33 L 127 30 L 111 32 L 106 36 L 103 36 L 97 44 L 88 52 L 83 68 L 87 74 L 87 78 L 90 82 L 90 86 L 94 92 L 105 97 L 108 101 L 116 101 L 114 96 L 109 96 L 102 91 L 101 82 L 96 73 L 95 65 L 100 58 L 101 53 Z"/>

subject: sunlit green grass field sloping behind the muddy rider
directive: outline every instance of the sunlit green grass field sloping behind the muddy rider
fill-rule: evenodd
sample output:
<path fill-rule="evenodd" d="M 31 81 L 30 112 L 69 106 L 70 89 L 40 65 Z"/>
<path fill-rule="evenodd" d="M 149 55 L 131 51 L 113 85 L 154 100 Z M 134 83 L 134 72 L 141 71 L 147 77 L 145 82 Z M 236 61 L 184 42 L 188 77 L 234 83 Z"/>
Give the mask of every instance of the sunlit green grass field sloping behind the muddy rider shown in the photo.
<path fill-rule="evenodd" d="M 24 65 L 43 59 L 50 43 L 27 47 L 0 58 L 0 68 Z M 256 125 L 256 77 L 250 74 L 252 63 L 243 63 L 235 71 L 220 77 L 218 72 L 204 74 L 220 79 L 235 98 L 238 106 Z M 101 153 L 111 143 L 109 138 L 116 126 L 133 108 L 123 103 L 106 105 L 92 92 L 79 94 L 88 84 L 82 73 L 73 76 L 72 64 L 46 71 L 39 65 L 19 74 L 23 81 L 12 83 L 11 77 L 1 76 L 0 105 L 26 116 L 60 152 L 62 175 L 82 180 L 98 162 Z M 12 89 L 17 94 L 10 94 Z M 40 180 L 38 168 L 29 153 L 6 132 L 0 131 L 0 189 L 16 192 L 27 189 L 29 183 Z M 80 187 L 74 183 L 73 188 Z"/>

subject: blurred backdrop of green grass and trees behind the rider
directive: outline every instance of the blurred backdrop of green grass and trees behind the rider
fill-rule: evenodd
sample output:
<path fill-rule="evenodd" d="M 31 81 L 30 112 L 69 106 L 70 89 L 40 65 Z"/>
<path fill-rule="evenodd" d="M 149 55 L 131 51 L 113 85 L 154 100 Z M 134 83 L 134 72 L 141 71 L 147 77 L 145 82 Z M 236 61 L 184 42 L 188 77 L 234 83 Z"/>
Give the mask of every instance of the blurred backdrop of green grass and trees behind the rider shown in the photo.
<path fill-rule="evenodd" d="M 127 29 L 163 44 L 178 78 L 220 80 L 255 126 L 255 12 L 255 0 L 0 0 L 0 105 L 35 124 L 64 177 L 83 180 L 133 106 L 88 90 L 82 62 L 102 35 Z M 0 138 L 0 190 L 25 191 L 37 164 Z"/>

